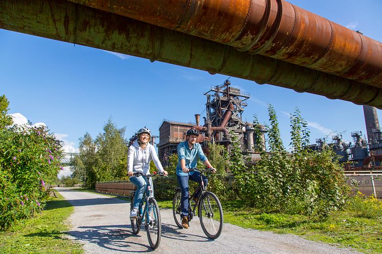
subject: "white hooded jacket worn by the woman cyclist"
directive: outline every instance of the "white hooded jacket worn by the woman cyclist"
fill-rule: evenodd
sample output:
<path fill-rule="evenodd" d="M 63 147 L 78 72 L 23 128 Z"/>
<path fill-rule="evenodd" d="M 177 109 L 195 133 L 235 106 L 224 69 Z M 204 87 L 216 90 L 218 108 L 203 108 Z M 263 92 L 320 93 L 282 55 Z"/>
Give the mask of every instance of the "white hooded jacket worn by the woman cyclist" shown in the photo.
<path fill-rule="evenodd" d="M 129 147 L 128 171 L 132 171 L 134 173 L 142 172 L 143 174 L 147 174 L 150 172 L 151 160 L 154 161 L 154 164 L 159 172 L 164 171 L 153 145 L 147 143 L 146 147 L 142 149 L 136 140 L 134 141 L 133 145 Z"/>

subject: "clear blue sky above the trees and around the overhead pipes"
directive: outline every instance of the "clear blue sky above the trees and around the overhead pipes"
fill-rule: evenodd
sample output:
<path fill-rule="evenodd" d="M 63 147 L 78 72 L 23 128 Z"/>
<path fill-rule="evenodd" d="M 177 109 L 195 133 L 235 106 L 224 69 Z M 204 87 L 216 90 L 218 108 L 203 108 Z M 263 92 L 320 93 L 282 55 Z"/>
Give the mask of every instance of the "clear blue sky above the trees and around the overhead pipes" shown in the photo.
<path fill-rule="evenodd" d="M 382 1 L 289 2 L 382 41 Z M 9 113 L 45 123 L 65 140 L 68 151 L 75 151 L 84 133 L 96 137 L 109 117 L 126 127 L 126 137 L 145 125 L 159 134 L 163 119 L 194 122 L 194 114 L 205 114 L 203 93 L 228 78 L 6 30 L 0 30 L 0 56 L 0 95 L 10 101 Z M 366 134 L 362 106 L 238 78 L 230 81 L 251 95 L 244 111 L 247 121 L 257 114 L 267 123 L 267 103 L 275 107 L 285 144 L 287 114 L 295 107 L 309 123 L 311 143 L 335 131 L 344 132 L 348 141 L 351 131 Z M 380 110 L 378 114 L 381 119 Z"/>

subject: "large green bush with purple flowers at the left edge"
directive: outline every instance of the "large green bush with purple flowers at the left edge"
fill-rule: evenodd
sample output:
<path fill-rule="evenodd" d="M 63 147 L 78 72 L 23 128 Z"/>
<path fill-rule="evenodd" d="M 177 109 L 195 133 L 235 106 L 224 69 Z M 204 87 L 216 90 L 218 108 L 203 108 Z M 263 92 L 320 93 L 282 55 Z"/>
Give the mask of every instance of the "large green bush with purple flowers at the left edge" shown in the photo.
<path fill-rule="evenodd" d="M 0 229 L 43 209 L 61 145 L 46 127 L 0 128 Z"/>

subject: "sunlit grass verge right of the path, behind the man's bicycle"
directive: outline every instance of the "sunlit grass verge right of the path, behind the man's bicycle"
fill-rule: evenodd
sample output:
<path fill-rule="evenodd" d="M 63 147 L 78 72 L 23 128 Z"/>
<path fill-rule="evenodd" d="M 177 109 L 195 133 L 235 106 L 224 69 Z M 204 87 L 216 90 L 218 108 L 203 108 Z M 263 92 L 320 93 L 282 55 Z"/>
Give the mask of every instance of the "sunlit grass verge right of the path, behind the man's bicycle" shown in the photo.
<path fill-rule="evenodd" d="M 172 200 L 160 200 L 158 204 L 161 208 L 172 209 Z M 299 235 L 338 247 L 355 248 L 364 253 L 382 253 L 382 217 L 360 217 L 359 211 L 349 206 L 319 222 L 311 221 L 304 215 L 259 213 L 243 201 L 222 201 L 222 207 L 224 222 L 243 228 Z"/>

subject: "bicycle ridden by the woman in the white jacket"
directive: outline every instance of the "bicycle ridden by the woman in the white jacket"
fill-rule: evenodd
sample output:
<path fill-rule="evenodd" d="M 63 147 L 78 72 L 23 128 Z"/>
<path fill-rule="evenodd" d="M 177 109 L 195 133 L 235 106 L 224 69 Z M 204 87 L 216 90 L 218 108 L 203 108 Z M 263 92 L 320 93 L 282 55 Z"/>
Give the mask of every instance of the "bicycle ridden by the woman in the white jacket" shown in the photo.
<path fill-rule="evenodd" d="M 138 216 L 136 218 L 130 219 L 131 228 L 133 233 L 137 235 L 141 229 L 141 224 L 145 223 L 148 243 L 153 249 L 156 249 L 160 243 L 162 224 L 158 203 L 153 196 L 150 196 L 150 191 L 152 190 L 150 178 L 152 176 L 163 176 L 163 174 L 158 173 L 154 175 L 145 175 L 141 172 L 134 173 L 134 176 L 140 175 L 147 179 L 147 185 L 146 189 L 144 190 L 141 202 L 139 203 L 139 209 L 137 211 Z M 130 211 L 133 209 L 135 193 L 135 191 L 131 193 Z"/>

